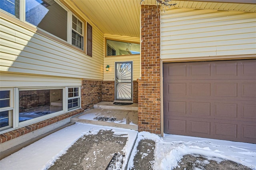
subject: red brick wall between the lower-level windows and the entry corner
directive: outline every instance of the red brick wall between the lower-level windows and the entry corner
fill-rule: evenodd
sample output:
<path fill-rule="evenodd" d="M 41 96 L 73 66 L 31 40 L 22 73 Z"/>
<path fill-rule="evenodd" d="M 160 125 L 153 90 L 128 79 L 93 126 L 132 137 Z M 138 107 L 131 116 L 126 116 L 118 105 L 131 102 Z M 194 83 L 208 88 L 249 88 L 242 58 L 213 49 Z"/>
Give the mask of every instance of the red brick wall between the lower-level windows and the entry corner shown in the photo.
<path fill-rule="evenodd" d="M 101 102 L 101 91 L 102 81 L 88 81 L 82 79 L 81 107 L 83 109 L 90 109 L 94 104 Z"/>

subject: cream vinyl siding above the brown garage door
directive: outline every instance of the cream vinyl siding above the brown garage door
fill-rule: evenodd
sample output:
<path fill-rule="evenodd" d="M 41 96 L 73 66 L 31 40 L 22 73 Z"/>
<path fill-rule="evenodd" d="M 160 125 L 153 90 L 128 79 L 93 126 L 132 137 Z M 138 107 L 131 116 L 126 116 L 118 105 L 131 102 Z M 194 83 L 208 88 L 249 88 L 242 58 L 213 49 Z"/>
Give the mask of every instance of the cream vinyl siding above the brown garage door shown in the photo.
<path fill-rule="evenodd" d="M 256 53 L 255 13 L 173 8 L 161 21 L 161 59 Z"/>

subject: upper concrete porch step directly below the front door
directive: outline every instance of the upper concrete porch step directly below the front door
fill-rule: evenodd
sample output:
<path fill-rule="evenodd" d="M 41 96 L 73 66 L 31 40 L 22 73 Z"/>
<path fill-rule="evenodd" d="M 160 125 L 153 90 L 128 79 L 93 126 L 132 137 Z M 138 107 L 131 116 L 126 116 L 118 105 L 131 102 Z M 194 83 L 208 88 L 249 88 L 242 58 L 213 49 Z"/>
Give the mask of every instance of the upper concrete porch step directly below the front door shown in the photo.
<path fill-rule="evenodd" d="M 118 109 L 118 110 L 129 110 L 138 111 L 138 103 L 132 103 L 132 105 L 114 105 L 114 102 L 102 101 L 94 105 L 97 109 Z"/>

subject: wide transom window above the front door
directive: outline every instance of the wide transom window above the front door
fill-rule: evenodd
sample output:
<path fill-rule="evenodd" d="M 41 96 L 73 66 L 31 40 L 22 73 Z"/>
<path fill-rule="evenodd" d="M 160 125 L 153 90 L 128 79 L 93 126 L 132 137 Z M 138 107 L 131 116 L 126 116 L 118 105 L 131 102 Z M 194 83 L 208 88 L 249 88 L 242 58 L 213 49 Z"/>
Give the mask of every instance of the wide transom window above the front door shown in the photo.
<path fill-rule="evenodd" d="M 106 56 L 140 54 L 140 44 L 106 39 Z"/>

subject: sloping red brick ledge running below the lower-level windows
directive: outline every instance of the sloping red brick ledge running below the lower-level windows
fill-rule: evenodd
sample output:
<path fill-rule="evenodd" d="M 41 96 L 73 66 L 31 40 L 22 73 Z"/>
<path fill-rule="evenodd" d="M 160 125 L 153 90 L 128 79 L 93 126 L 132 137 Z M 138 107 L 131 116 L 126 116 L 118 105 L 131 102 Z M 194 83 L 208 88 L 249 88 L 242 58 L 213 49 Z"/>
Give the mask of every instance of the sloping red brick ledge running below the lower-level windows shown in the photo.
<path fill-rule="evenodd" d="M 66 119 L 68 117 L 72 117 L 74 115 L 82 113 L 83 111 L 84 111 L 84 109 L 77 109 L 75 111 L 71 111 L 71 112 L 65 113 L 63 115 L 58 115 L 56 117 L 52 117 L 50 119 L 46 119 L 46 120 L 40 121 L 38 123 L 34 123 L 34 124 L 28 125 L 26 127 L 18 128 L 16 130 L 12 130 L 10 132 L 0 134 L 0 144 L 6 142 L 8 140 L 12 140 L 14 138 L 17 138 L 19 136 L 22 136 L 24 134 L 27 134 L 29 132 L 33 132 L 37 129 L 46 127 L 48 125 L 51 125 L 53 123 L 56 123 L 56 122 L 61 121 L 63 119 Z"/>

